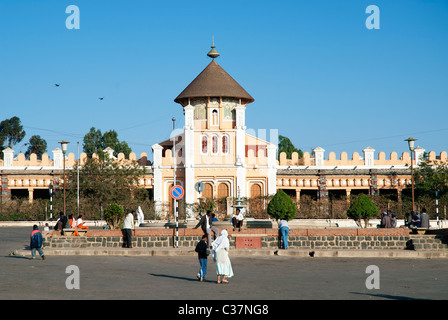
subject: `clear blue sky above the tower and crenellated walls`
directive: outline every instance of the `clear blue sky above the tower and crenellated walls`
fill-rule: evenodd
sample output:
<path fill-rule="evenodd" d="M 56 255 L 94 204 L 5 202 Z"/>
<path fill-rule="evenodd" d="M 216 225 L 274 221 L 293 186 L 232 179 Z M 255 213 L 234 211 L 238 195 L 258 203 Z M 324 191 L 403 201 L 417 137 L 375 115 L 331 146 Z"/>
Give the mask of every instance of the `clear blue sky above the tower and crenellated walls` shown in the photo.
<path fill-rule="evenodd" d="M 80 29 L 67 29 L 67 6 Z M 380 29 L 366 28 L 369 5 Z M 0 121 L 18 116 L 47 153 L 91 127 L 140 156 L 167 139 L 174 98 L 217 62 L 254 98 L 251 130 L 297 148 L 448 151 L 446 0 L 0 0 Z M 59 83 L 60 87 L 54 84 Z M 104 97 L 99 100 L 99 97 Z M 269 137 L 269 134 L 268 134 Z"/>

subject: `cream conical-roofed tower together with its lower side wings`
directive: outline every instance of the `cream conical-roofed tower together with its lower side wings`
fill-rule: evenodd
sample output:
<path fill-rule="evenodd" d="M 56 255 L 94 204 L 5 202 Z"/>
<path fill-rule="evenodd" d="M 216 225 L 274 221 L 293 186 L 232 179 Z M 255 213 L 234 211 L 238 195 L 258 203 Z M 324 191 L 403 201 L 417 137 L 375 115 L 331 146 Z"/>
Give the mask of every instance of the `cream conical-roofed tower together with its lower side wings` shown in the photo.
<path fill-rule="evenodd" d="M 246 134 L 246 106 L 254 98 L 216 62 L 220 54 L 214 43 L 207 56 L 212 61 L 174 99 L 182 106 L 185 115 L 184 132 L 179 138 L 182 142 L 179 148 L 176 144 L 176 150 L 180 149 L 181 154 L 178 168 L 184 170 L 176 176 L 182 177 L 185 202 L 193 204 L 199 197 L 220 200 L 245 197 L 249 195 L 246 189 L 251 187 L 251 181 L 256 181 L 257 186 L 259 184 L 259 195 L 266 195 L 273 183 L 275 192 L 275 174 L 268 188 L 267 170 L 249 169 L 267 168 L 268 149 L 271 166 L 275 167 L 275 148 L 268 148 L 269 143 Z M 169 143 L 166 146 L 169 148 Z M 254 149 L 248 151 L 251 147 Z M 162 155 L 164 148 L 156 145 L 153 149 L 156 164 L 156 153 Z M 264 159 L 263 165 L 248 164 L 248 154 L 253 155 L 251 159 L 255 161 L 259 160 L 255 159 L 259 152 Z M 250 177 L 249 170 L 252 170 Z M 164 180 L 164 174 L 165 171 L 154 169 L 155 184 L 160 181 L 162 188 L 163 181 L 168 181 Z M 202 193 L 195 190 L 196 182 L 204 183 Z M 167 191 L 158 192 L 154 185 L 154 200 L 162 199 L 163 194 Z M 231 201 L 227 203 L 229 214 L 233 210 L 231 205 Z M 193 217 L 193 213 L 187 212 L 187 217 Z"/>

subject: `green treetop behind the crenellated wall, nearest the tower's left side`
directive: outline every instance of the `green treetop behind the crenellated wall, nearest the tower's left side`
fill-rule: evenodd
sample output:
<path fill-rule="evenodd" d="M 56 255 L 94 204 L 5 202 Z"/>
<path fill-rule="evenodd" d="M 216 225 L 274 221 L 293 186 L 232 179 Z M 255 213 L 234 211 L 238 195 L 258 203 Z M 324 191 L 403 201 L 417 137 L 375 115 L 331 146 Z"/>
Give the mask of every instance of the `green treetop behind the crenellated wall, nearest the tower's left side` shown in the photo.
<path fill-rule="evenodd" d="M 118 134 L 115 130 L 110 130 L 102 134 L 101 130 L 92 127 L 84 136 L 83 148 L 88 157 L 96 153 L 102 158 L 104 150 L 108 147 L 114 150 L 114 156 L 122 152 L 126 158 L 129 158 L 129 154 L 132 152 L 126 141 L 118 140 Z"/>

